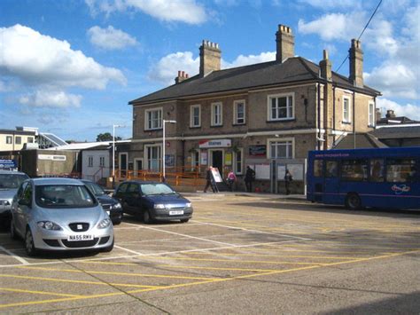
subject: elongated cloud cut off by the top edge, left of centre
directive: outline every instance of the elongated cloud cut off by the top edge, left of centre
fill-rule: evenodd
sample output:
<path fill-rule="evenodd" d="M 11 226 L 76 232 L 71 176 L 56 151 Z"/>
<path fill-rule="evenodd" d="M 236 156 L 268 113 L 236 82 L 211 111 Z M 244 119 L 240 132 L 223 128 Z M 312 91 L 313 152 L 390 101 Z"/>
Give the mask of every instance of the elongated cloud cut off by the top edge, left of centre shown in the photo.
<path fill-rule="evenodd" d="M 207 20 L 206 9 L 195 0 L 85 0 L 85 2 L 93 15 L 97 12 L 109 15 L 113 12 L 135 10 L 167 22 L 201 24 Z"/>

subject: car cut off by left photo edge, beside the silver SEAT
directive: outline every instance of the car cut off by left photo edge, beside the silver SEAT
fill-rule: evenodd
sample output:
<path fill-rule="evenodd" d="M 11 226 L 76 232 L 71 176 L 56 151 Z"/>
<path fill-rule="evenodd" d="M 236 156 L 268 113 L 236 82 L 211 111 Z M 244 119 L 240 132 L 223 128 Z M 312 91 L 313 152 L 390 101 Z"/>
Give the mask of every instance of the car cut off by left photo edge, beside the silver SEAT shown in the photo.
<path fill-rule="evenodd" d="M 27 174 L 13 171 L 0 170 L 0 224 L 9 227 L 11 224 L 12 200 L 19 185 L 27 178 Z"/>

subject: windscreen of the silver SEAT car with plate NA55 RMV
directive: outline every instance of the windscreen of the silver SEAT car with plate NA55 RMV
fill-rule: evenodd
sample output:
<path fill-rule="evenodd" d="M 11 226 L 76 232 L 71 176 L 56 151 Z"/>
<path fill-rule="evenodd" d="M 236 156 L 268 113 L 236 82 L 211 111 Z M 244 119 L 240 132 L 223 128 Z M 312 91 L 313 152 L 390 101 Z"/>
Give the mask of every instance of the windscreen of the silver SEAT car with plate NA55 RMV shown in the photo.
<path fill-rule="evenodd" d="M 43 208 L 89 208 L 97 201 L 85 185 L 37 185 L 35 202 Z"/>

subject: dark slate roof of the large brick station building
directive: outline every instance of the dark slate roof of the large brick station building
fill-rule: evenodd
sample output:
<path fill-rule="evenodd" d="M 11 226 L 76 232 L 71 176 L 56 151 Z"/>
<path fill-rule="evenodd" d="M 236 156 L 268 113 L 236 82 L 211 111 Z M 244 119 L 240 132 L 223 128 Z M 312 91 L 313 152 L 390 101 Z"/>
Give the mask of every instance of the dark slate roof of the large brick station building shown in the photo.
<path fill-rule="evenodd" d="M 214 92 L 251 90 L 278 84 L 324 81 L 319 74 L 320 67 L 315 63 L 301 57 L 293 57 L 286 59 L 283 63 L 269 61 L 250 66 L 213 71 L 206 76 L 195 75 L 182 83 L 168 86 L 142 98 L 136 98 L 128 104 L 139 105 Z M 362 91 L 369 95 L 380 95 L 379 91 L 368 86 L 363 88 L 354 87 L 348 78 L 335 72 L 332 73 L 332 82 L 346 89 Z"/>

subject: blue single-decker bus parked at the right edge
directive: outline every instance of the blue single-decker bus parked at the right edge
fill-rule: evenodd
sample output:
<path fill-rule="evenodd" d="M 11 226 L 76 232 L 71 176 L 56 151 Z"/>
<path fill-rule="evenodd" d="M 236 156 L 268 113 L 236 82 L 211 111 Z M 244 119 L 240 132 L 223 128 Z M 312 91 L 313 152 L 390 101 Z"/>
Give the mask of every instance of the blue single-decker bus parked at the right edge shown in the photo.
<path fill-rule="evenodd" d="M 420 146 L 310 151 L 307 200 L 347 209 L 420 209 Z"/>

